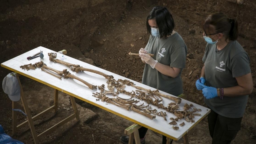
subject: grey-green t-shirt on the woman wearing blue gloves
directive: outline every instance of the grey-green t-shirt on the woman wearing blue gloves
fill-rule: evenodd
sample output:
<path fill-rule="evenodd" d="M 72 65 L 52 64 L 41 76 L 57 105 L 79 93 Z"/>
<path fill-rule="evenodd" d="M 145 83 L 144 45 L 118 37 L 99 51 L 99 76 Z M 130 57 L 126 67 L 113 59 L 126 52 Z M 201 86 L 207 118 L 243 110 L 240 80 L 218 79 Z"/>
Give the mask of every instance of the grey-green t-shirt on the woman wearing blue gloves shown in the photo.
<path fill-rule="evenodd" d="M 205 65 L 205 85 L 227 88 L 238 85 L 236 77 L 251 73 L 250 58 L 237 41 L 217 51 L 216 44 L 207 44 L 203 62 Z M 204 102 L 221 116 L 239 118 L 244 115 L 248 95 L 235 97 L 215 97 Z"/>

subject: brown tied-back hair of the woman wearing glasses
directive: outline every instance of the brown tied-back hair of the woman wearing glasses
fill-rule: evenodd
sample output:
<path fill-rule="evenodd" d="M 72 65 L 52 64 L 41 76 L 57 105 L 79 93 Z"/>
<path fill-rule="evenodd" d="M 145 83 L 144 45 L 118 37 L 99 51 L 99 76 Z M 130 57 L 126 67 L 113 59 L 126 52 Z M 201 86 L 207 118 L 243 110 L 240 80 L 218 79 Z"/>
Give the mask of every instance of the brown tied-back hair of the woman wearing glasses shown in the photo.
<path fill-rule="evenodd" d="M 210 25 L 214 27 L 215 33 L 222 33 L 226 36 L 226 40 L 235 41 L 238 37 L 238 25 L 236 19 L 229 19 L 224 13 L 216 12 L 207 16 L 203 22 L 204 32 L 212 30 Z"/>

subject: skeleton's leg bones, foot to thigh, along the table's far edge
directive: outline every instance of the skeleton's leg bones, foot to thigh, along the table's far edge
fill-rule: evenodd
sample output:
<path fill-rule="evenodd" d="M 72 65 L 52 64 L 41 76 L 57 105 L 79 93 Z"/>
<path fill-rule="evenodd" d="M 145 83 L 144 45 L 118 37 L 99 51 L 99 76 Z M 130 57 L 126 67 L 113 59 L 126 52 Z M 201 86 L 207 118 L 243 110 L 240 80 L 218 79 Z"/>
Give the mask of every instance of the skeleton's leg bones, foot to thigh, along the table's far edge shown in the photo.
<path fill-rule="evenodd" d="M 106 75 L 106 74 L 104 74 L 104 73 L 102 73 L 102 72 L 100 72 L 100 71 L 97 71 L 97 70 L 93 70 L 93 69 L 89 69 L 89 68 L 80 67 L 80 65 L 75 65 L 75 64 L 72 64 L 72 63 L 68 63 L 68 62 L 66 62 L 66 61 L 63 61 L 63 60 L 58 60 L 58 59 L 56 59 L 56 56 L 57 56 L 56 53 L 48 53 L 48 55 L 49 55 L 50 61 L 54 61 L 54 62 L 63 64 L 63 65 L 66 65 L 66 66 L 68 66 L 72 71 L 75 71 L 76 73 L 78 73 L 79 71 L 89 71 L 89 72 L 96 73 L 96 74 L 99 74 L 99 75 L 101 75 L 101 76 L 104 76 L 106 79 L 108 79 L 108 81 L 110 81 L 112 78 L 114 78 L 114 76 Z"/>

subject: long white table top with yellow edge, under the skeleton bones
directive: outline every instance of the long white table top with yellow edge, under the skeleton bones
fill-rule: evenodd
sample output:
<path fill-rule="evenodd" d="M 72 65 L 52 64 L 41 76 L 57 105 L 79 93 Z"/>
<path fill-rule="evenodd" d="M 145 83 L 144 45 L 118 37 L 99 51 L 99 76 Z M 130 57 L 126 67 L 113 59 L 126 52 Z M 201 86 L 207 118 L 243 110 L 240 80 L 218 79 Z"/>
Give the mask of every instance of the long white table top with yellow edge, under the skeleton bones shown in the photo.
<path fill-rule="evenodd" d="M 40 50 L 43 51 L 43 54 L 44 54 L 43 59 L 40 59 L 38 57 L 38 58 L 35 58 L 35 59 L 32 59 L 32 60 L 27 60 L 28 56 L 31 56 L 31 55 L 33 55 L 37 52 L 40 52 Z M 78 98 L 78 99 L 84 100 L 84 101 L 86 101 L 86 102 L 88 102 L 92 105 L 100 107 L 100 108 L 102 108 L 104 110 L 107 110 L 111 113 L 114 113 L 117 116 L 121 116 L 121 117 L 123 117 L 125 119 L 128 119 L 128 120 L 130 120 L 130 121 L 132 121 L 136 124 L 139 124 L 139 125 L 144 126 L 148 129 L 151 129 L 155 132 L 163 134 L 163 135 L 165 135 L 165 136 L 167 136 L 167 137 L 169 137 L 173 140 L 179 140 L 183 135 L 185 135 L 190 129 L 192 129 L 197 123 L 199 123 L 205 116 L 207 116 L 210 113 L 210 109 L 205 108 L 203 106 L 200 106 L 196 103 L 190 102 L 188 100 L 182 99 L 182 101 L 180 103 L 180 110 L 181 111 L 183 110 L 184 104 L 186 104 L 186 103 L 187 104 L 193 104 L 192 108 L 198 108 L 198 109 L 200 108 L 202 110 L 201 112 L 196 112 L 196 113 L 200 113 L 201 116 L 195 116 L 195 118 L 193 119 L 193 120 L 195 120 L 195 123 L 186 122 L 185 119 L 179 120 L 175 126 L 179 126 L 179 124 L 181 124 L 182 122 L 185 122 L 185 125 L 183 127 L 179 126 L 179 130 L 173 130 L 172 125 L 169 124 L 171 122 L 170 118 L 171 117 L 176 118 L 176 116 L 174 114 L 170 113 L 170 112 L 166 112 L 164 109 L 157 108 L 156 106 L 153 106 L 152 104 L 151 104 L 152 109 L 156 108 L 157 112 L 160 112 L 160 111 L 166 112 L 167 121 L 164 121 L 164 118 L 161 117 L 161 116 L 156 116 L 156 119 L 152 120 L 152 119 L 150 119 L 146 116 L 140 115 L 140 114 L 138 114 L 138 113 L 136 113 L 132 110 L 128 111 L 128 110 L 125 110 L 124 108 L 112 105 L 110 103 L 103 102 L 101 100 L 96 100 L 96 98 L 92 96 L 92 93 L 93 92 L 100 92 L 100 90 L 99 89 L 92 90 L 92 89 L 88 88 L 88 86 L 83 84 L 82 82 L 77 81 L 75 79 L 72 79 L 72 78 L 64 79 L 63 77 L 61 79 L 59 79 L 55 76 L 52 76 L 52 75 L 42 71 L 41 68 L 36 68 L 35 70 L 32 69 L 32 70 L 28 70 L 28 71 L 23 70 L 23 69 L 20 68 L 20 66 L 25 65 L 25 64 L 29 64 L 29 63 L 34 64 L 38 61 L 43 61 L 48 67 L 57 69 L 59 71 L 62 71 L 63 69 L 68 69 L 68 71 L 71 74 L 73 74 L 75 76 L 78 76 L 79 78 L 85 80 L 86 82 L 88 82 L 90 84 L 93 84 L 93 85 L 105 84 L 105 90 L 108 90 L 107 83 L 106 83 L 107 79 L 105 79 L 105 77 L 100 76 L 98 74 L 91 73 L 91 72 L 87 72 L 87 71 L 84 71 L 84 72 L 81 71 L 79 73 L 73 72 L 73 71 L 70 70 L 70 68 L 68 68 L 65 65 L 62 65 L 60 63 L 54 63 L 54 62 L 50 61 L 49 56 L 47 54 L 49 52 L 54 52 L 54 51 L 40 46 L 40 47 L 37 47 L 37 48 L 35 48 L 31 51 L 28 51 L 24 54 L 21 54 L 21 55 L 13 58 L 11 60 L 5 61 L 4 63 L 1 64 L 1 66 L 4 67 L 4 68 L 7 68 L 9 70 L 12 70 L 14 72 L 17 72 L 17 73 L 19 73 L 23 76 L 27 76 L 31 79 L 34 79 L 34 80 L 36 80 L 40 83 L 46 84 L 46 85 L 48 85 L 52 88 L 55 88 L 59 91 L 65 92 L 65 93 L 67 93 L 71 96 L 74 96 L 74 97 Z M 62 58 L 62 56 L 63 56 L 63 54 L 57 53 L 57 59 L 60 60 Z M 133 81 L 133 80 L 128 79 L 128 78 L 123 77 L 123 76 L 119 76 L 119 75 L 114 74 L 112 72 L 109 72 L 107 70 L 92 66 L 92 65 L 87 64 L 85 62 L 82 62 L 80 60 L 76 60 L 76 59 L 68 57 L 66 55 L 64 55 L 64 57 L 66 59 L 64 59 L 63 61 L 66 61 L 68 63 L 78 64 L 78 65 L 80 65 L 81 67 L 84 67 L 84 68 L 90 68 L 90 69 L 98 70 L 98 71 L 103 72 L 107 75 L 114 76 L 114 79 L 116 79 L 116 80 L 118 80 L 118 79 L 122 79 L 122 80 L 127 79 L 127 80 L 130 80 L 131 82 L 133 82 L 136 86 L 140 86 L 140 87 L 150 89 L 150 90 L 156 90 L 156 89 L 154 89 L 152 87 L 149 87 L 147 85 L 141 84 L 139 82 Z M 127 86 L 126 85 L 126 88 L 124 90 L 126 90 L 127 92 L 132 92 L 132 90 L 135 91 L 137 89 L 132 87 L 132 86 Z M 115 89 L 115 91 L 117 91 L 117 90 Z M 166 95 L 170 95 L 166 92 L 162 92 L 162 91 L 159 91 L 159 92 L 161 92 L 163 94 L 166 94 Z M 107 94 L 107 96 L 109 98 L 114 97 L 111 94 Z M 122 94 L 122 93 L 118 94 L 118 96 L 122 97 L 122 98 L 125 98 L 125 99 L 130 98 L 130 96 Z M 142 100 L 140 100 L 139 103 L 136 103 L 136 105 L 140 105 L 143 102 L 144 102 L 144 105 L 147 105 L 147 103 L 145 101 L 142 101 Z M 174 102 L 174 101 L 166 99 L 166 98 L 163 97 L 163 101 L 161 103 L 163 103 L 163 105 L 165 107 L 167 107 L 167 105 L 170 102 Z"/>

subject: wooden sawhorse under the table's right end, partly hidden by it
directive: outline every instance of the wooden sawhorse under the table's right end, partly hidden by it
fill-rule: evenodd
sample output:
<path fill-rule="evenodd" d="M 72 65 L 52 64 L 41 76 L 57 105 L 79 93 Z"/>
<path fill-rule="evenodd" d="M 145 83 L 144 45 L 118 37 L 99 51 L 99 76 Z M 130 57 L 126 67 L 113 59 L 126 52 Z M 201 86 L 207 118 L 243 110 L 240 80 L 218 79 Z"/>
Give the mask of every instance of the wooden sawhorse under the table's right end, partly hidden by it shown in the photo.
<path fill-rule="evenodd" d="M 182 99 L 186 99 L 186 95 L 184 95 L 184 94 L 180 94 L 178 97 L 180 97 Z M 124 134 L 129 135 L 128 144 L 133 144 L 134 139 L 135 139 L 136 144 L 140 144 L 140 135 L 139 135 L 139 130 L 138 130 L 139 128 L 141 128 L 141 126 L 139 124 L 132 124 L 131 126 L 129 126 L 128 128 L 126 128 L 124 130 Z M 167 139 L 166 144 L 170 144 L 171 139 L 168 137 L 166 139 Z M 184 140 L 184 144 L 188 144 L 188 134 L 187 133 L 183 136 L 183 140 Z"/>

